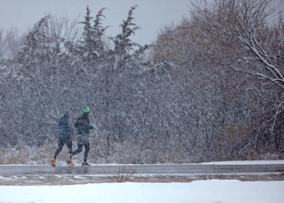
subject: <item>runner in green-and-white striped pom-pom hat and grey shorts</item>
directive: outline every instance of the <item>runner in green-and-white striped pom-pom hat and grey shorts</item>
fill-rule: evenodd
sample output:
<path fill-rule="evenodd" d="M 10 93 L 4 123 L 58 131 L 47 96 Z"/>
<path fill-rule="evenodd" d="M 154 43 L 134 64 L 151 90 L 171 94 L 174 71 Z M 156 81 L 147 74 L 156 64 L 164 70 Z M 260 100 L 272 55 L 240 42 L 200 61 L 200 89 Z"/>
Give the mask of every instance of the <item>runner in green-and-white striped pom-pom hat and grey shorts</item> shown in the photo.
<path fill-rule="evenodd" d="M 90 125 L 89 114 L 90 109 L 84 106 L 83 115 L 78 118 L 77 122 L 74 125 L 74 127 L 77 128 L 76 134 L 78 149 L 76 149 L 72 153 L 72 156 L 82 152 L 83 145 L 85 146 L 84 162 L 82 163 L 82 167 L 90 166 L 87 164 L 87 158 L 90 150 L 89 130 L 94 129 L 95 125 Z"/>

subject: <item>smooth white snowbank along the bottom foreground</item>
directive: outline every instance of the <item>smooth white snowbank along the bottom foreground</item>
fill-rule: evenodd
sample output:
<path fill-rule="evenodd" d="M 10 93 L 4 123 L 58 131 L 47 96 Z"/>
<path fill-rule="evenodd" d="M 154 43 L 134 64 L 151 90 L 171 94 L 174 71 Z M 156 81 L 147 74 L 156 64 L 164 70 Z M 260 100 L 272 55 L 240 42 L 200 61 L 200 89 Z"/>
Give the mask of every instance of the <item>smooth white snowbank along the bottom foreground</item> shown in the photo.
<path fill-rule="evenodd" d="M 1 202 L 283 202 L 284 181 L 0 186 Z M 72 193 L 70 194 L 70 191 Z M 46 194 L 49 194 L 46 196 Z M 51 198 L 51 199 L 50 199 Z"/>

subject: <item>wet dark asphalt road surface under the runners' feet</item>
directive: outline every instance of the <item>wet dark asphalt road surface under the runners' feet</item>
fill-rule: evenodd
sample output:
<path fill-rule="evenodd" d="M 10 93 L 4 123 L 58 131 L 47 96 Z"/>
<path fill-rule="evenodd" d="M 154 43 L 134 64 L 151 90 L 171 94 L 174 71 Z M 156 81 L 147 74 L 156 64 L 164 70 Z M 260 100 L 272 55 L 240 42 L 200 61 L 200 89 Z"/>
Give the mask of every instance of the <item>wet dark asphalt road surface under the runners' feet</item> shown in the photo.
<path fill-rule="evenodd" d="M 113 173 L 121 165 L 79 166 L 0 166 L 0 176 L 11 175 L 100 175 Z M 272 165 L 125 165 L 138 174 L 273 173 L 284 172 L 283 164 Z"/>

